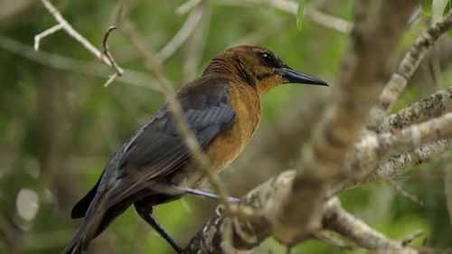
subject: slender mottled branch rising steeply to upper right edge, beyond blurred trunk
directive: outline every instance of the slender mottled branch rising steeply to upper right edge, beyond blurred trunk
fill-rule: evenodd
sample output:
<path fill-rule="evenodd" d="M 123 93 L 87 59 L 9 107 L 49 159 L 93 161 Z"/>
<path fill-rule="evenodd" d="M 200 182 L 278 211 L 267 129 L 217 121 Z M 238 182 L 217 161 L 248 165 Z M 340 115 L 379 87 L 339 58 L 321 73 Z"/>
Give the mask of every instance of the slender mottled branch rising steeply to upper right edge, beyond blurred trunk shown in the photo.
<path fill-rule="evenodd" d="M 371 118 L 367 124 L 369 128 L 376 129 L 380 126 L 381 120 L 391 110 L 397 99 L 399 99 L 411 75 L 418 68 L 420 61 L 422 61 L 435 42 L 438 41 L 438 38 L 447 32 L 451 25 L 452 13 L 449 13 L 419 35 L 409 52 L 400 61 L 398 70 L 392 74 L 391 80 L 381 92 L 377 104 L 372 108 L 370 113 Z"/>

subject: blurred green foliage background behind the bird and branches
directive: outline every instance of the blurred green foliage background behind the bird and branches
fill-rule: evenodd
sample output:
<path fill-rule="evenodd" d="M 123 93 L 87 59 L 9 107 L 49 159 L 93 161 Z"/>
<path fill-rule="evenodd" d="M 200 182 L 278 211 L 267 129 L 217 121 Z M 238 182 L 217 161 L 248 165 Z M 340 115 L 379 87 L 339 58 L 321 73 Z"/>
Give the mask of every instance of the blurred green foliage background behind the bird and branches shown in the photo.
<path fill-rule="evenodd" d="M 96 183 L 122 141 L 163 104 L 163 95 L 155 89 L 152 76 L 122 27 L 135 27 L 149 47 L 159 52 L 192 12 L 201 13 L 193 30 L 185 30 L 186 40 L 162 63 L 175 89 L 199 76 L 213 56 L 238 44 L 266 46 L 292 68 L 334 85 L 348 40 L 347 33 L 307 17 L 300 32 L 295 14 L 259 1 L 245 1 L 254 2 L 249 5 L 240 1 L 202 1 L 194 11 L 175 14 L 174 10 L 185 1 L 126 0 L 119 1 L 126 6 L 122 18 L 115 11 L 118 1 L 53 2 L 72 26 L 99 49 L 108 26 L 118 23 L 118 31 L 108 41 L 110 51 L 121 67 L 138 72 L 126 71 L 127 77 L 104 88 L 112 71 L 61 31 L 43 38 L 40 52 L 33 52 L 34 35 L 55 24 L 52 15 L 40 1 L 0 1 L 0 253 L 60 253 L 80 224 L 70 218 L 72 206 Z M 296 2 L 292 4 L 297 6 Z M 352 22 L 353 5 L 351 0 L 313 0 L 307 2 L 306 12 L 316 9 Z M 389 60 L 387 76 L 434 19 L 422 13 L 413 16 Z M 448 38 L 440 40 L 396 109 L 452 85 L 451 48 Z M 435 71 L 435 66 L 442 71 Z M 238 162 L 221 174 L 233 195 L 240 196 L 268 176 L 295 165 L 302 146 L 309 143 L 314 115 L 320 114 L 330 90 L 286 85 L 263 97 L 261 130 Z M 319 105 L 313 106 L 315 102 Z M 303 108 L 300 112 L 311 110 L 314 115 L 287 117 L 300 110 L 297 106 Z M 291 126 L 306 128 L 301 128 L 297 136 L 284 136 L 282 130 Z M 271 136 L 265 135 L 269 130 L 273 130 Z M 284 153 L 266 150 L 289 143 Z M 276 167 L 259 167 L 263 156 L 267 166 Z M 452 229 L 443 183 L 444 171 L 452 170 L 448 162 L 438 158 L 394 179 L 417 195 L 423 206 L 401 197 L 387 183 L 378 182 L 343 193 L 344 207 L 391 238 L 402 239 L 414 230 L 423 230 L 425 234 L 413 246 L 425 241 L 431 247 L 450 248 Z M 188 196 L 156 207 L 155 217 L 184 246 L 214 215 L 216 204 Z M 253 253 L 282 253 L 285 249 L 269 239 Z M 129 209 L 92 242 L 88 253 L 173 252 Z M 293 253 L 350 251 L 309 240 Z"/>

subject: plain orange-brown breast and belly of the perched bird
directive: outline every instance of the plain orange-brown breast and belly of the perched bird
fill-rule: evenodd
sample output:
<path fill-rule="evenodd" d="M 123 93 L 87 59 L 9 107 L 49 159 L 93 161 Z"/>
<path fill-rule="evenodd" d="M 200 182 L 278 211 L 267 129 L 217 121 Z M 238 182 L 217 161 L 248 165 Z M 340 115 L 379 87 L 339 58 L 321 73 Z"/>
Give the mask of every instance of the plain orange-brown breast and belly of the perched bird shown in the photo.
<path fill-rule="evenodd" d="M 230 165 L 240 155 L 260 123 L 261 104 L 256 89 L 231 82 L 227 98 L 235 111 L 235 121 L 204 150 L 211 159 L 215 173 Z"/>

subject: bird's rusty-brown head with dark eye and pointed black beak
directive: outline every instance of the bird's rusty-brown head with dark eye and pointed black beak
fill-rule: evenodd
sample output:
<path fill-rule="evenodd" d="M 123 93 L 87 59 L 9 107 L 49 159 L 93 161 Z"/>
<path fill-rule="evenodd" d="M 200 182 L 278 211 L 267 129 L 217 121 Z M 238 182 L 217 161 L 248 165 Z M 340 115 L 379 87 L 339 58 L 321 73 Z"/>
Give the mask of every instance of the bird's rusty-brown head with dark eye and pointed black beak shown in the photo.
<path fill-rule="evenodd" d="M 259 94 L 285 83 L 328 86 L 325 81 L 288 67 L 275 53 L 257 46 L 237 46 L 212 59 L 202 75 L 221 74 L 245 81 Z"/>

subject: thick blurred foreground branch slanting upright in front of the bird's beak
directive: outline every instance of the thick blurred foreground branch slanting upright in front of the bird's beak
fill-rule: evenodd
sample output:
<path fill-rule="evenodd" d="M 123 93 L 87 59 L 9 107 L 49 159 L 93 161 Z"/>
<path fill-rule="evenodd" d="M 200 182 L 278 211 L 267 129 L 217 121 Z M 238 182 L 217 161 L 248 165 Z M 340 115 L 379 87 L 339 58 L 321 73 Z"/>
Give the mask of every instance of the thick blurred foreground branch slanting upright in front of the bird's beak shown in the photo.
<path fill-rule="evenodd" d="M 381 73 L 417 1 L 360 1 L 330 107 L 303 158 L 292 194 L 267 209 L 272 234 L 295 244 L 321 227 L 328 185 L 340 174 L 369 109 L 381 91 Z M 303 208 L 300 207 L 303 204 Z M 307 209 L 306 209 L 307 208 Z"/>

